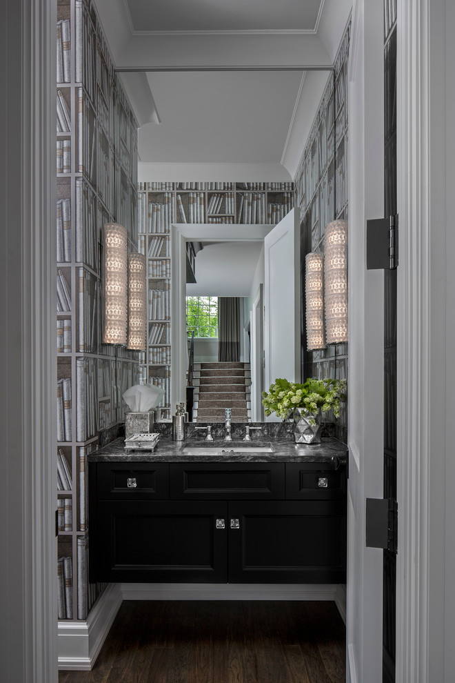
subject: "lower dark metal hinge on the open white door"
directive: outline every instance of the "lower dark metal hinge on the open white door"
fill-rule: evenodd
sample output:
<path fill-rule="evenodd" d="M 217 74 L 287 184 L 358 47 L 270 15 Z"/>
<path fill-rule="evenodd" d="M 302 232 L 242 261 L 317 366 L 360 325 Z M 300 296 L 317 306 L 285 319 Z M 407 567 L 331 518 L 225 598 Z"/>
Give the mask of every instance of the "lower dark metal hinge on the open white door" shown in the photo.
<path fill-rule="evenodd" d="M 393 498 L 367 498 L 366 546 L 396 555 L 398 504 Z"/>

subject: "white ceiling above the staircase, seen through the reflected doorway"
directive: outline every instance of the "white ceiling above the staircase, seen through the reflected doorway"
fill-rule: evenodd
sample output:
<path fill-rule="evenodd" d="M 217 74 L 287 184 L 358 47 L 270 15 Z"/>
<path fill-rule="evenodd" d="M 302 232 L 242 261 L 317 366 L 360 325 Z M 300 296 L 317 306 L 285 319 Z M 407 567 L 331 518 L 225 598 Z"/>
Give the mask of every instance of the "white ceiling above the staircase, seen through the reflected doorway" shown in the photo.
<path fill-rule="evenodd" d="M 204 246 L 196 255 L 196 283 L 187 284 L 187 296 L 249 296 L 262 249 L 262 241 L 215 242 Z"/>

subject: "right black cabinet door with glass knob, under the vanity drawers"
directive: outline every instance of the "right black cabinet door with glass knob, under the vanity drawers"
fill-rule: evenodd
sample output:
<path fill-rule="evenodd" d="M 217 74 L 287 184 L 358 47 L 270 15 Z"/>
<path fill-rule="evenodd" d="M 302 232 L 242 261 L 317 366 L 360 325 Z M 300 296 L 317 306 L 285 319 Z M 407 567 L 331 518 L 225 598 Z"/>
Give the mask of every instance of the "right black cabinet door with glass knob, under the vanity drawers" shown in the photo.
<path fill-rule="evenodd" d="M 229 504 L 232 583 L 344 583 L 345 502 Z"/>

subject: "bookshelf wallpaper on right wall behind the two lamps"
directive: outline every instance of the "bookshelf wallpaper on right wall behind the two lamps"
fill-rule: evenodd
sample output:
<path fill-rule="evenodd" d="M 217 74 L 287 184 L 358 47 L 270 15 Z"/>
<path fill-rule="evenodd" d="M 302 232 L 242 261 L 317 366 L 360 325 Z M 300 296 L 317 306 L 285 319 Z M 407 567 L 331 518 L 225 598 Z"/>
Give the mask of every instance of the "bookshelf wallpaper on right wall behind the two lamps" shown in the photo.
<path fill-rule="evenodd" d="M 347 212 L 347 60 L 350 26 L 341 39 L 334 73 L 312 123 L 296 172 L 296 206 L 301 215 L 301 361 L 306 377 L 347 377 L 347 344 L 306 350 L 305 255 L 324 250 L 325 227 L 334 219 L 348 219 Z M 347 442 L 347 406 L 341 406 L 336 437 Z"/>

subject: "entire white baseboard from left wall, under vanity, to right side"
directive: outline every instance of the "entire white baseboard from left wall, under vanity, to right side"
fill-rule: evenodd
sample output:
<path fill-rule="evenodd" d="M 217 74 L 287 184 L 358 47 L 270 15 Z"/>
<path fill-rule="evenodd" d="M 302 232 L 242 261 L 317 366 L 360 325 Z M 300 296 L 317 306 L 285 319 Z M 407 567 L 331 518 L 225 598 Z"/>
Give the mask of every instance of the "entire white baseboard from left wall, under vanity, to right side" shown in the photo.
<path fill-rule="evenodd" d="M 59 622 L 59 669 L 90 671 L 123 600 L 334 600 L 346 617 L 338 584 L 109 584 L 85 622 Z"/>

